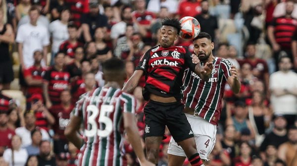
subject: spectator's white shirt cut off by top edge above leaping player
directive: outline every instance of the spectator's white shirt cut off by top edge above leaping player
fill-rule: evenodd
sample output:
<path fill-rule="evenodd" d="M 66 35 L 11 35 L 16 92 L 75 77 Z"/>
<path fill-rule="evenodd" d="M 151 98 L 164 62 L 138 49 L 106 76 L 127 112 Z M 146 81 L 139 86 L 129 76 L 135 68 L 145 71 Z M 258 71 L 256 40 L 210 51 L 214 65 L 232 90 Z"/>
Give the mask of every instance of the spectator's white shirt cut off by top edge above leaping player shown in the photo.
<path fill-rule="evenodd" d="M 162 8 L 166 8 L 171 16 L 174 16 L 177 12 L 178 1 L 176 0 L 149 0 L 148 11 L 153 12 L 157 16 L 161 12 Z"/>

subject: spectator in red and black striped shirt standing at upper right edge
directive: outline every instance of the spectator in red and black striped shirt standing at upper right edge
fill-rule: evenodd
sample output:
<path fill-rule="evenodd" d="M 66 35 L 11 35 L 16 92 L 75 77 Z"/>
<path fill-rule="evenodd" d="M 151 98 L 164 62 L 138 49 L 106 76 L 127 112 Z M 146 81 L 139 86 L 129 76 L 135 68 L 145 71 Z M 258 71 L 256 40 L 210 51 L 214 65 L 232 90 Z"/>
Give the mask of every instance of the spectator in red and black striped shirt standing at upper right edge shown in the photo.
<path fill-rule="evenodd" d="M 278 70 L 278 59 L 280 53 L 285 51 L 287 56 L 293 60 L 291 52 L 292 36 L 297 29 L 297 19 L 291 16 L 294 10 L 294 1 L 286 1 L 286 13 L 275 18 L 268 26 L 267 35 L 274 51 L 274 60 Z"/>

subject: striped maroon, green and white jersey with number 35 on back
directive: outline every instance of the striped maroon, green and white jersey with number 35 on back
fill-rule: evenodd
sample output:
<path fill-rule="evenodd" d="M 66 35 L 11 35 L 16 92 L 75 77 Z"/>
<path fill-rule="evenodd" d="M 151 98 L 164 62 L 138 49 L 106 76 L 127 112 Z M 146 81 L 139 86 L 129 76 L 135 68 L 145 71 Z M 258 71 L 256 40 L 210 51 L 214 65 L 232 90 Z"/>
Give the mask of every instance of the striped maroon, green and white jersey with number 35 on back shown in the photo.
<path fill-rule="evenodd" d="M 78 166 L 127 166 L 121 153 L 123 113 L 135 109 L 134 97 L 120 89 L 103 87 L 82 95 L 73 109 L 84 125 Z"/>

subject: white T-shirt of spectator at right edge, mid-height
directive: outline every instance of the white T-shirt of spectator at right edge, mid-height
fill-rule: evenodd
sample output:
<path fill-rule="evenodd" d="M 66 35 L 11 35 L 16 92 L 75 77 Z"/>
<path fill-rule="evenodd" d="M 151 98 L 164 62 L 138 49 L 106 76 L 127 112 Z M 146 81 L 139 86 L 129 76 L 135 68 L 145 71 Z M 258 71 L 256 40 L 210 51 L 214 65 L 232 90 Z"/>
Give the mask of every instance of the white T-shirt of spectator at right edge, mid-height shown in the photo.
<path fill-rule="evenodd" d="M 269 89 L 287 89 L 288 91 L 297 89 L 297 73 L 289 71 L 277 71 L 270 75 Z M 271 104 L 274 114 L 296 115 L 297 97 L 294 95 L 275 96 L 271 94 Z"/>

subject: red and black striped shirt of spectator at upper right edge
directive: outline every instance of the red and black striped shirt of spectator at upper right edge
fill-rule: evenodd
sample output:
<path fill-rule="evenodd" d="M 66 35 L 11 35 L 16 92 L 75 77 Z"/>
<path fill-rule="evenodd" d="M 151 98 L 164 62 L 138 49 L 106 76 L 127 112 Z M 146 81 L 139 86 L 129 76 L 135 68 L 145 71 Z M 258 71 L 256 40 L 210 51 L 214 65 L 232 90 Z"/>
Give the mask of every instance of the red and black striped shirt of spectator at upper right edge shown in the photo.
<path fill-rule="evenodd" d="M 282 49 L 291 49 L 292 36 L 297 27 L 297 20 L 290 17 L 275 18 L 271 26 L 274 27 L 275 41 Z"/>

